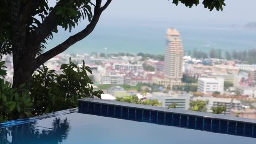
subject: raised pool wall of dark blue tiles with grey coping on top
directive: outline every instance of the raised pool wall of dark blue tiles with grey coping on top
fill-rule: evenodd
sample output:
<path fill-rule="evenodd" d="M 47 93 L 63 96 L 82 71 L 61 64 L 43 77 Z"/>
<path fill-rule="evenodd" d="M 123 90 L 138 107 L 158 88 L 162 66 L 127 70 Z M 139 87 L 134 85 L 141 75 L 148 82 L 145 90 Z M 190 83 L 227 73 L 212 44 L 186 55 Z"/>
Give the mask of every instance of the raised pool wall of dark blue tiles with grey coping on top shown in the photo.
<path fill-rule="evenodd" d="M 93 98 L 79 99 L 79 112 L 256 138 L 256 120 Z"/>

